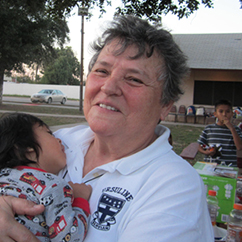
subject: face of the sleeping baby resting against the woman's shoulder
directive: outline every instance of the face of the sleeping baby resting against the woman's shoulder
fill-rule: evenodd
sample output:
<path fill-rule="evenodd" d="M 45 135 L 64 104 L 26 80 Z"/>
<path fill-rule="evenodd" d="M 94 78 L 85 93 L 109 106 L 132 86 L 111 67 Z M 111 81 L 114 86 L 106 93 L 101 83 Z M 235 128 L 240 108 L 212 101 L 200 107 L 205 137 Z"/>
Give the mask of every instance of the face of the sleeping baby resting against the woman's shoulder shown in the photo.
<path fill-rule="evenodd" d="M 34 125 L 33 131 L 41 147 L 38 167 L 57 174 L 66 165 L 65 148 L 61 140 L 55 138 L 47 127 L 39 124 Z"/>

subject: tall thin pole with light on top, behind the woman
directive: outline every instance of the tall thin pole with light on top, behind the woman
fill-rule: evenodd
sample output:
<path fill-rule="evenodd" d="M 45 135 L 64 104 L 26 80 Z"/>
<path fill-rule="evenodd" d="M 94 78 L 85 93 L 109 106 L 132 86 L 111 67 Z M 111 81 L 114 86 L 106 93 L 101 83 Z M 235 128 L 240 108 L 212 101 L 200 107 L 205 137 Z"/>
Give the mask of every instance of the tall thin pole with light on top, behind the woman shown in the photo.
<path fill-rule="evenodd" d="M 84 46 L 84 16 L 88 15 L 88 8 L 85 8 L 84 5 L 82 7 L 78 7 L 78 16 L 81 16 L 81 68 L 80 68 L 80 105 L 79 110 L 83 113 L 83 46 Z"/>

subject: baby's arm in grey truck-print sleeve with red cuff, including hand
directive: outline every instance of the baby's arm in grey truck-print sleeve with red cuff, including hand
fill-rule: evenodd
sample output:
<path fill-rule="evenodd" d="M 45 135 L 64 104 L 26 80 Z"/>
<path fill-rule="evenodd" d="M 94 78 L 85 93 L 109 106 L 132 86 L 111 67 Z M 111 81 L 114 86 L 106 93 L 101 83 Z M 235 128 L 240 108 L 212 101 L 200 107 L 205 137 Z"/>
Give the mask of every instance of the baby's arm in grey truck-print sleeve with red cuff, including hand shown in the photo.
<path fill-rule="evenodd" d="M 49 187 L 45 194 L 45 197 L 50 193 L 53 196 L 53 203 L 45 207 L 50 241 L 57 242 L 64 239 L 83 241 L 88 230 L 90 215 L 89 204 L 85 198 L 90 197 L 91 187 L 74 184 L 74 187 L 81 187 L 80 191 L 74 193 L 71 185 L 64 180 L 60 181 L 58 178 L 52 183 L 54 185 Z"/>

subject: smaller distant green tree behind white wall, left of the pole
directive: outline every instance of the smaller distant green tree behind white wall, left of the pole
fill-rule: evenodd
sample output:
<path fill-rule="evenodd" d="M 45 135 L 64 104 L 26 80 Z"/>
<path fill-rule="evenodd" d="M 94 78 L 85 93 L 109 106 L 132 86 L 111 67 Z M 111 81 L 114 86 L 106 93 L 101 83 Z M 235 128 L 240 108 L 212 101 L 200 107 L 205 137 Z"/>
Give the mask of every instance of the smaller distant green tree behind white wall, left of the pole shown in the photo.
<path fill-rule="evenodd" d="M 79 85 L 80 63 L 71 47 L 57 49 L 57 58 L 44 67 L 43 83 Z"/>

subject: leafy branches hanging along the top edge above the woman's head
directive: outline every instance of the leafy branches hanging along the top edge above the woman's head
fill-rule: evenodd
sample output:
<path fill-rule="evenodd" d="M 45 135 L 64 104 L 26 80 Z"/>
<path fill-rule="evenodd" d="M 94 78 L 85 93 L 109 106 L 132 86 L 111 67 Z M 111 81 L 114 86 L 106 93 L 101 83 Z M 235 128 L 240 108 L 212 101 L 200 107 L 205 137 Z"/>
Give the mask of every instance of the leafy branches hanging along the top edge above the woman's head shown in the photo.
<path fill-rule="evenodd" d="M 117 0 L 116 0 L 117 1 Z M 242 0 L 241 5 L 242 5 Z M 151 21 L 157 21 L 161 15 L 173 13 L 178 18 L 188 17 L 194 11 L 199 9 L 200 4 L 211 8 L 213 0 L 120 0 L 122 7 L 116 8 L 115 15 L 119 14 L 135 14 L 139 17 L 145 17 Z M 111 0 L 62 0 L 61 4 L 58 1 L 53 2 L 51 11 L 62 16 L 65 13 L 70 13 L 74 6 L 80 5 L 93 9 L 99 7 L 101 15 L 106 13 L 105 5 L 112 5 Z M 100 15 L 100 16 L 101 16 Z M 91 12 L 89 11 L 89 17 Z"/>

